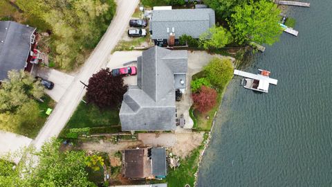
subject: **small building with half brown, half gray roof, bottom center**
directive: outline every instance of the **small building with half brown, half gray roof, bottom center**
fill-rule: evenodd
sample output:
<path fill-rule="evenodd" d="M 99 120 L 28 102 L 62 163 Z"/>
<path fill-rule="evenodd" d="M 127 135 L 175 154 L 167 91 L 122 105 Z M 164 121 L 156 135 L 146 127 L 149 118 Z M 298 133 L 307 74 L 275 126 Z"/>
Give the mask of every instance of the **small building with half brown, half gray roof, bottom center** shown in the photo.
<path fill-rule="evenodd" d="M 124 150 L 122 174 L 131 179 L 164 179 L 167 175 L 165 148 Z"/>

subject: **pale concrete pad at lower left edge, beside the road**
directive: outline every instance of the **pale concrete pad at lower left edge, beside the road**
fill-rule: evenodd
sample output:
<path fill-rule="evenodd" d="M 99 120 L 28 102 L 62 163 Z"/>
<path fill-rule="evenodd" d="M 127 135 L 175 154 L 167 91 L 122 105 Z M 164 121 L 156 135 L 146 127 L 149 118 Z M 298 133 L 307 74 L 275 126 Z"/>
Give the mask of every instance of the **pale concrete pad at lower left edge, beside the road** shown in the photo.
<path fill-rule="evenodd" d="M 28 147 L 31 141 L 33 140 L 26 136 L 0 130 L 0 156 L 4 156 L 10 152 L 17 152 L 21 150 L 21 148 Z M 12 161 L 19 163 L 20 159 L 20 157 L 14 157 Z"/>

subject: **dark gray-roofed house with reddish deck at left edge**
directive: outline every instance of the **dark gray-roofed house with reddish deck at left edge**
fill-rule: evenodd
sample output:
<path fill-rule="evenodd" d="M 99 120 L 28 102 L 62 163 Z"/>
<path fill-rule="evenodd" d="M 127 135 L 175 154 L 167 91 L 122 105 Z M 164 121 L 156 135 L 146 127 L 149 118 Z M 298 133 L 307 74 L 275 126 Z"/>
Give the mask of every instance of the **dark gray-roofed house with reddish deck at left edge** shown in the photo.
<path fill-rule="evenodd" d="M 33 71 L 44 62 L 45 55 L 37 50 L 36 28 L 15 21 L 0 21 L 0 81 L 10 70 Z"/>

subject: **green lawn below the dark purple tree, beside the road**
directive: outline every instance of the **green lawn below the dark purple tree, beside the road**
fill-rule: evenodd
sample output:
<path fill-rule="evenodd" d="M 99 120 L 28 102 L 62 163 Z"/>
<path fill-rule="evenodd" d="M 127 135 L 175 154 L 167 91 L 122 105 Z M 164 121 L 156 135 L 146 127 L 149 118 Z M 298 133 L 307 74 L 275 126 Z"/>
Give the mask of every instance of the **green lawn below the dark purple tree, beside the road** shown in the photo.
<path fill-rule="evenodd" d="M 109 127 L 119 125 L 118 109 L 99 109 L 81 101 L 66 128 Z"/>

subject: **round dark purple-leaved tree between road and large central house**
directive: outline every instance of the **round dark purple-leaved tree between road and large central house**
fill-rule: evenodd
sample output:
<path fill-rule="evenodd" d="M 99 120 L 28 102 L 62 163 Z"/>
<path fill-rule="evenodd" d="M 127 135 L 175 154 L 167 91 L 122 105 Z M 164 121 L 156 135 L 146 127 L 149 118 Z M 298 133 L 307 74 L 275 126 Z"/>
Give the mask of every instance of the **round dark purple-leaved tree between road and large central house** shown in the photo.
<path fill-rule="evenodd" d="M 86 92 L 89 103 L 98 107 L 118 107 L 127 91 L 122 76 L 113 77 L 109 68 L 92 75 Z"/>

